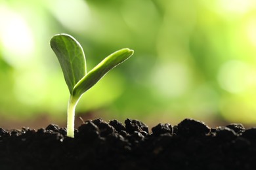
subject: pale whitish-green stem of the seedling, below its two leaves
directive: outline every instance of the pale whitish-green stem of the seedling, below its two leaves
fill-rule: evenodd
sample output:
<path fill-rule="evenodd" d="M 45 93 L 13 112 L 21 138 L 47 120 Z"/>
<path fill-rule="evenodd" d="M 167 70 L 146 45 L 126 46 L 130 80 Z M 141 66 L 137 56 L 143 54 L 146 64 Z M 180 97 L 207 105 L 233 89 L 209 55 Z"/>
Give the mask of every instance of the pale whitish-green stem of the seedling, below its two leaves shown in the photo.
<path fill-rule="evenodd" d="M 79 98 L 74 98 L 70 95 L 70 101 L 68 101 L 68 124 L 67 124 L 67 136 L 74 137 L 75 130 L 75 107 L 79 101 Z"/>

